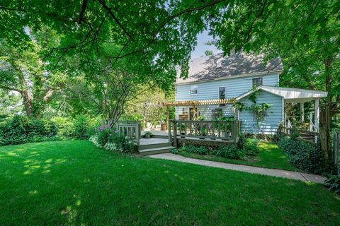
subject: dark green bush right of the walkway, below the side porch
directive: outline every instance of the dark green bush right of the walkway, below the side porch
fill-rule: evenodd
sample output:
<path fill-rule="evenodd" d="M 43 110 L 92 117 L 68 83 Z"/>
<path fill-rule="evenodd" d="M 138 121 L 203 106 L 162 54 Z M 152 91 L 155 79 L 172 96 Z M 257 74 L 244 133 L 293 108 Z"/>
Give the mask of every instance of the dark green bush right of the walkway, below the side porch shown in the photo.
<path fill-rule="evenodd" d="M 326 167 L 319 144 L 314 145 L 305 141 L 280 137 L 278 146 L 288 155 L 288 161 L 298 169 L 315 174 L 325 171 Z"/>

